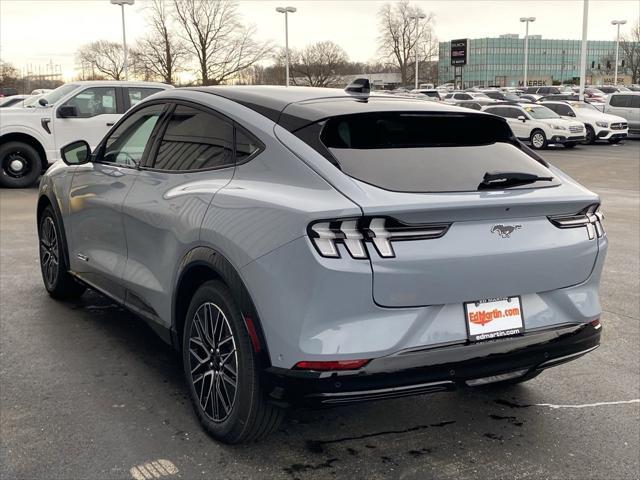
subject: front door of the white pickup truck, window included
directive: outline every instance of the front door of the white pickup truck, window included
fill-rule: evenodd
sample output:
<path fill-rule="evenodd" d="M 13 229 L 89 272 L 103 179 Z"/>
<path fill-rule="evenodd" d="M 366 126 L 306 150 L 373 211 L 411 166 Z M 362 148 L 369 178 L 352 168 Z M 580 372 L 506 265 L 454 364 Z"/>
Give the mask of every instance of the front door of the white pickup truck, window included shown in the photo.
<path fill-rule="evenodd" d="M 61 106 L 75 107 L 77 116 L 63 117 Z M 120 87 L 88 87 L 61 105 L 53 115 L 56 151 L 76 140 L 86 140 L 93 149 L 124 113 Z"/>

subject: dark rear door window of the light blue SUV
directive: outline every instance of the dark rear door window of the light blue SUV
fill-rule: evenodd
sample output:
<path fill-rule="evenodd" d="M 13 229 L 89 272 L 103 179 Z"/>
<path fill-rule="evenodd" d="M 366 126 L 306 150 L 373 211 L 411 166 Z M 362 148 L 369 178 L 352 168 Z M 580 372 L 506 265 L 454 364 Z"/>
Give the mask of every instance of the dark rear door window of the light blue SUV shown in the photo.
<path fill-rule="evenodd" d="M 154 168 L 189 171 L 233 163 L 231 122 L 203 110 L 178 105 L 160 142 Z"/>

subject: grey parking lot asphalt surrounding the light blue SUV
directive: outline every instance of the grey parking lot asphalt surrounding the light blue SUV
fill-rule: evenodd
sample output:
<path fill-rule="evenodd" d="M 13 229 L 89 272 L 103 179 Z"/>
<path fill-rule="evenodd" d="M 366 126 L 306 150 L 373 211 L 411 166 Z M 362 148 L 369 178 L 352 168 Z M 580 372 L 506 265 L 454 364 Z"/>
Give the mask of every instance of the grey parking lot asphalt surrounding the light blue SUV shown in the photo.
<path fill-rule="evenodd" d="M 2 479 L 640 477 L 640 141 L 542 156 L 602 197 L 602 346 L 512 388 L 291 411 L 258 444 L 199 427 L 177 357 L 96 294 L 46 294 L 37 189 L 0 191 Z"/>

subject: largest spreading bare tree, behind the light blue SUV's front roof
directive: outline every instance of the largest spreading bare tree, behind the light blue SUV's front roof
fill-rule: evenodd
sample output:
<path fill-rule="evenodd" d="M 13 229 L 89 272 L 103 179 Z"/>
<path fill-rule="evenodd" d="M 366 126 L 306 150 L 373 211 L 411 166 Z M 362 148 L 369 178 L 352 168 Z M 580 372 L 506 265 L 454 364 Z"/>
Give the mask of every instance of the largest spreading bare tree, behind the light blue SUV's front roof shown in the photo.
<path fill-rule="evenodd" d="M 174 0 L 176 18 L 196 57 L 203 85 L 222 83 L 269 55 L 269 43 L 253 40 L 233 0 Z"/>

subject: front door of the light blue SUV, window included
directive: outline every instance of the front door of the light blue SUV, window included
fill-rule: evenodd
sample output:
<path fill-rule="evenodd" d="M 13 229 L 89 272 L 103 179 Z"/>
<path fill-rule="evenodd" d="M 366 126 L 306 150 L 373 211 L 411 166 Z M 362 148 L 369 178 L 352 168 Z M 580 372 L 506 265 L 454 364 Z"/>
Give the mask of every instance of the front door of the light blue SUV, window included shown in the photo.
<path fill-rule="evenodd" d="M 127 243 L 122 204 L 139 174 L 164 105 L 148 105 L 114 128 L 94 154 L 77 167 L 67 217 L 71 269 L 93 286 L 123 300 Z"/>

